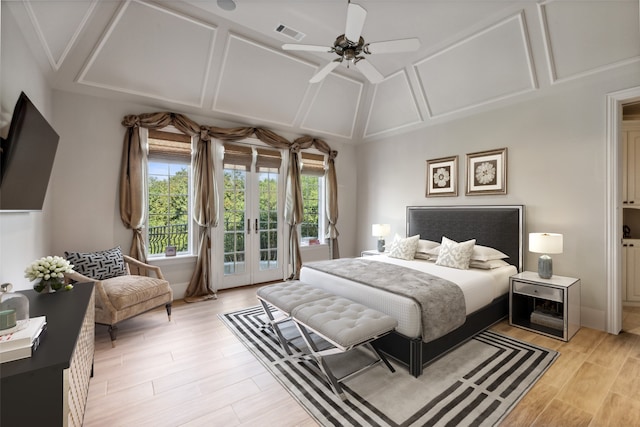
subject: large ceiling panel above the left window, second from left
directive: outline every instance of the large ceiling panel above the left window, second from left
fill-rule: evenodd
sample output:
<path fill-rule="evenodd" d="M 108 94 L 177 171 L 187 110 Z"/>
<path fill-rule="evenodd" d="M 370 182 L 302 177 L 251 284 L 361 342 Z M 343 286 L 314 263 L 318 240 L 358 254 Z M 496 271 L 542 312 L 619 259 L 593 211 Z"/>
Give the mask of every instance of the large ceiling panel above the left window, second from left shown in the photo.
<path fill-rule="evenodd" d="M 215 27 L 168 9 L 127 2 L 78 81 L 201 107 L 215 34 Z"/>

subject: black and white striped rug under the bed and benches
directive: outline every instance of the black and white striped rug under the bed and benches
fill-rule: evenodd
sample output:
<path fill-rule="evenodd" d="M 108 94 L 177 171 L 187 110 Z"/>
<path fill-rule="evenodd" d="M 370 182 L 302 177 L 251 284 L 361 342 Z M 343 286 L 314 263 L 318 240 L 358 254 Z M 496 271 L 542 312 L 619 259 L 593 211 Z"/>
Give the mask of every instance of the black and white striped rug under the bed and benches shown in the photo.
<path fill-rule="evenodd" d="M 495 426 L 513 409 L 558 356 L 548 350 L 485 331 L 425 367 L 419 378 L 392 361 L 346 380 L 345 401 L 336 396 L 312 362 L 287 356 L 264 327 L 259 306 L 220 319 L 291 395 L 323 426 Z M 289 326 L 288 328 L 286 326 Z M 285 325 L 304 351 L 293 325 Z M 355 353 L 354 353 L 355 352 Z M 358 354 L 359 352 L 359 354 Z M 334 373 L 369 357 L 353 350 L 331 361 Z"/>

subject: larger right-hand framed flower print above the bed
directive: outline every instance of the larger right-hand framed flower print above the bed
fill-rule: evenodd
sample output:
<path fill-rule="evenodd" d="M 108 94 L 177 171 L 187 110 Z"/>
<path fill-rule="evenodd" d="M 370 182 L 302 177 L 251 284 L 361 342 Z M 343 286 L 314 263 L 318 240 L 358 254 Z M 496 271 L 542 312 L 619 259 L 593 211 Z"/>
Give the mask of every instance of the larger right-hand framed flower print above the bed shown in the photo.
<path fill-rule="evenodd" d="M 467 154 L 466 194 L 507 194 L 507 149 Z"/>

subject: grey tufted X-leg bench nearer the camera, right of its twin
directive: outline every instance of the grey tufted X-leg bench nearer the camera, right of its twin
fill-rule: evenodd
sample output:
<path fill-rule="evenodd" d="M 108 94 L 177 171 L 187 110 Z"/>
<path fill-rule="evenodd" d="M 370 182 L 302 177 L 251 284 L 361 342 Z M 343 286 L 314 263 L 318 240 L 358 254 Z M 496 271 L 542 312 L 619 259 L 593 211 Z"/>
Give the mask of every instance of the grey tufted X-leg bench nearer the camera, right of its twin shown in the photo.
<path fill-rule="evenodd" d="M 396 319 L 334 295 L 298 305 L 292 309 L 291 318 L 300 330 L 311 355 L 329 379 L 331 387 L 343 400 L 345 396 L 339 384 L 341 381 L 380 362 L 384 362 L 391 372 L 395 371 L 385 356 L 371 345 L 371 341 L 391 332 L 398 325 Z M 320 336 L 334 347 L 319 350 L 310 332 Z M 336 378 L 325 356 L 347 352 L 358 346 L 369 348 L 377 356 L 376 360 L 342 378 Z"/>

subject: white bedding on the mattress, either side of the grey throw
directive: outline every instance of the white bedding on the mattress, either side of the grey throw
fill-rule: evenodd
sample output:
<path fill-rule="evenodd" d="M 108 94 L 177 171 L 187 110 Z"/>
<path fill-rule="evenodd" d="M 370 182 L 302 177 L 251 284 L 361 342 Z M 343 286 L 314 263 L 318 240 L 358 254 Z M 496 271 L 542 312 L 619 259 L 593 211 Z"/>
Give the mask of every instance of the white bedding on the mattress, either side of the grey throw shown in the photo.
<path fill-rule="evenodd" d="M 414 259 L 406 261 L 386 255 L 374 255 L 368 260 L 387 262 L 429 273 L 456 283 L 464 294 L 466 313 L 469 315 L 491 303 L 495 298 L 509 290 L 509 277 L 517 273 L 514 266 L 494 268 L 492 270 L 458 270 L 441 267 L 433 262 Z M 332 276 L 302 266 L 300 281 L 349 298 L 375 310 L 381 311 L 398 320 L 396 331 L 410 338 L 422 336 L 421 309 L 411 298 L 372 288 L 341 277 Z"/>

